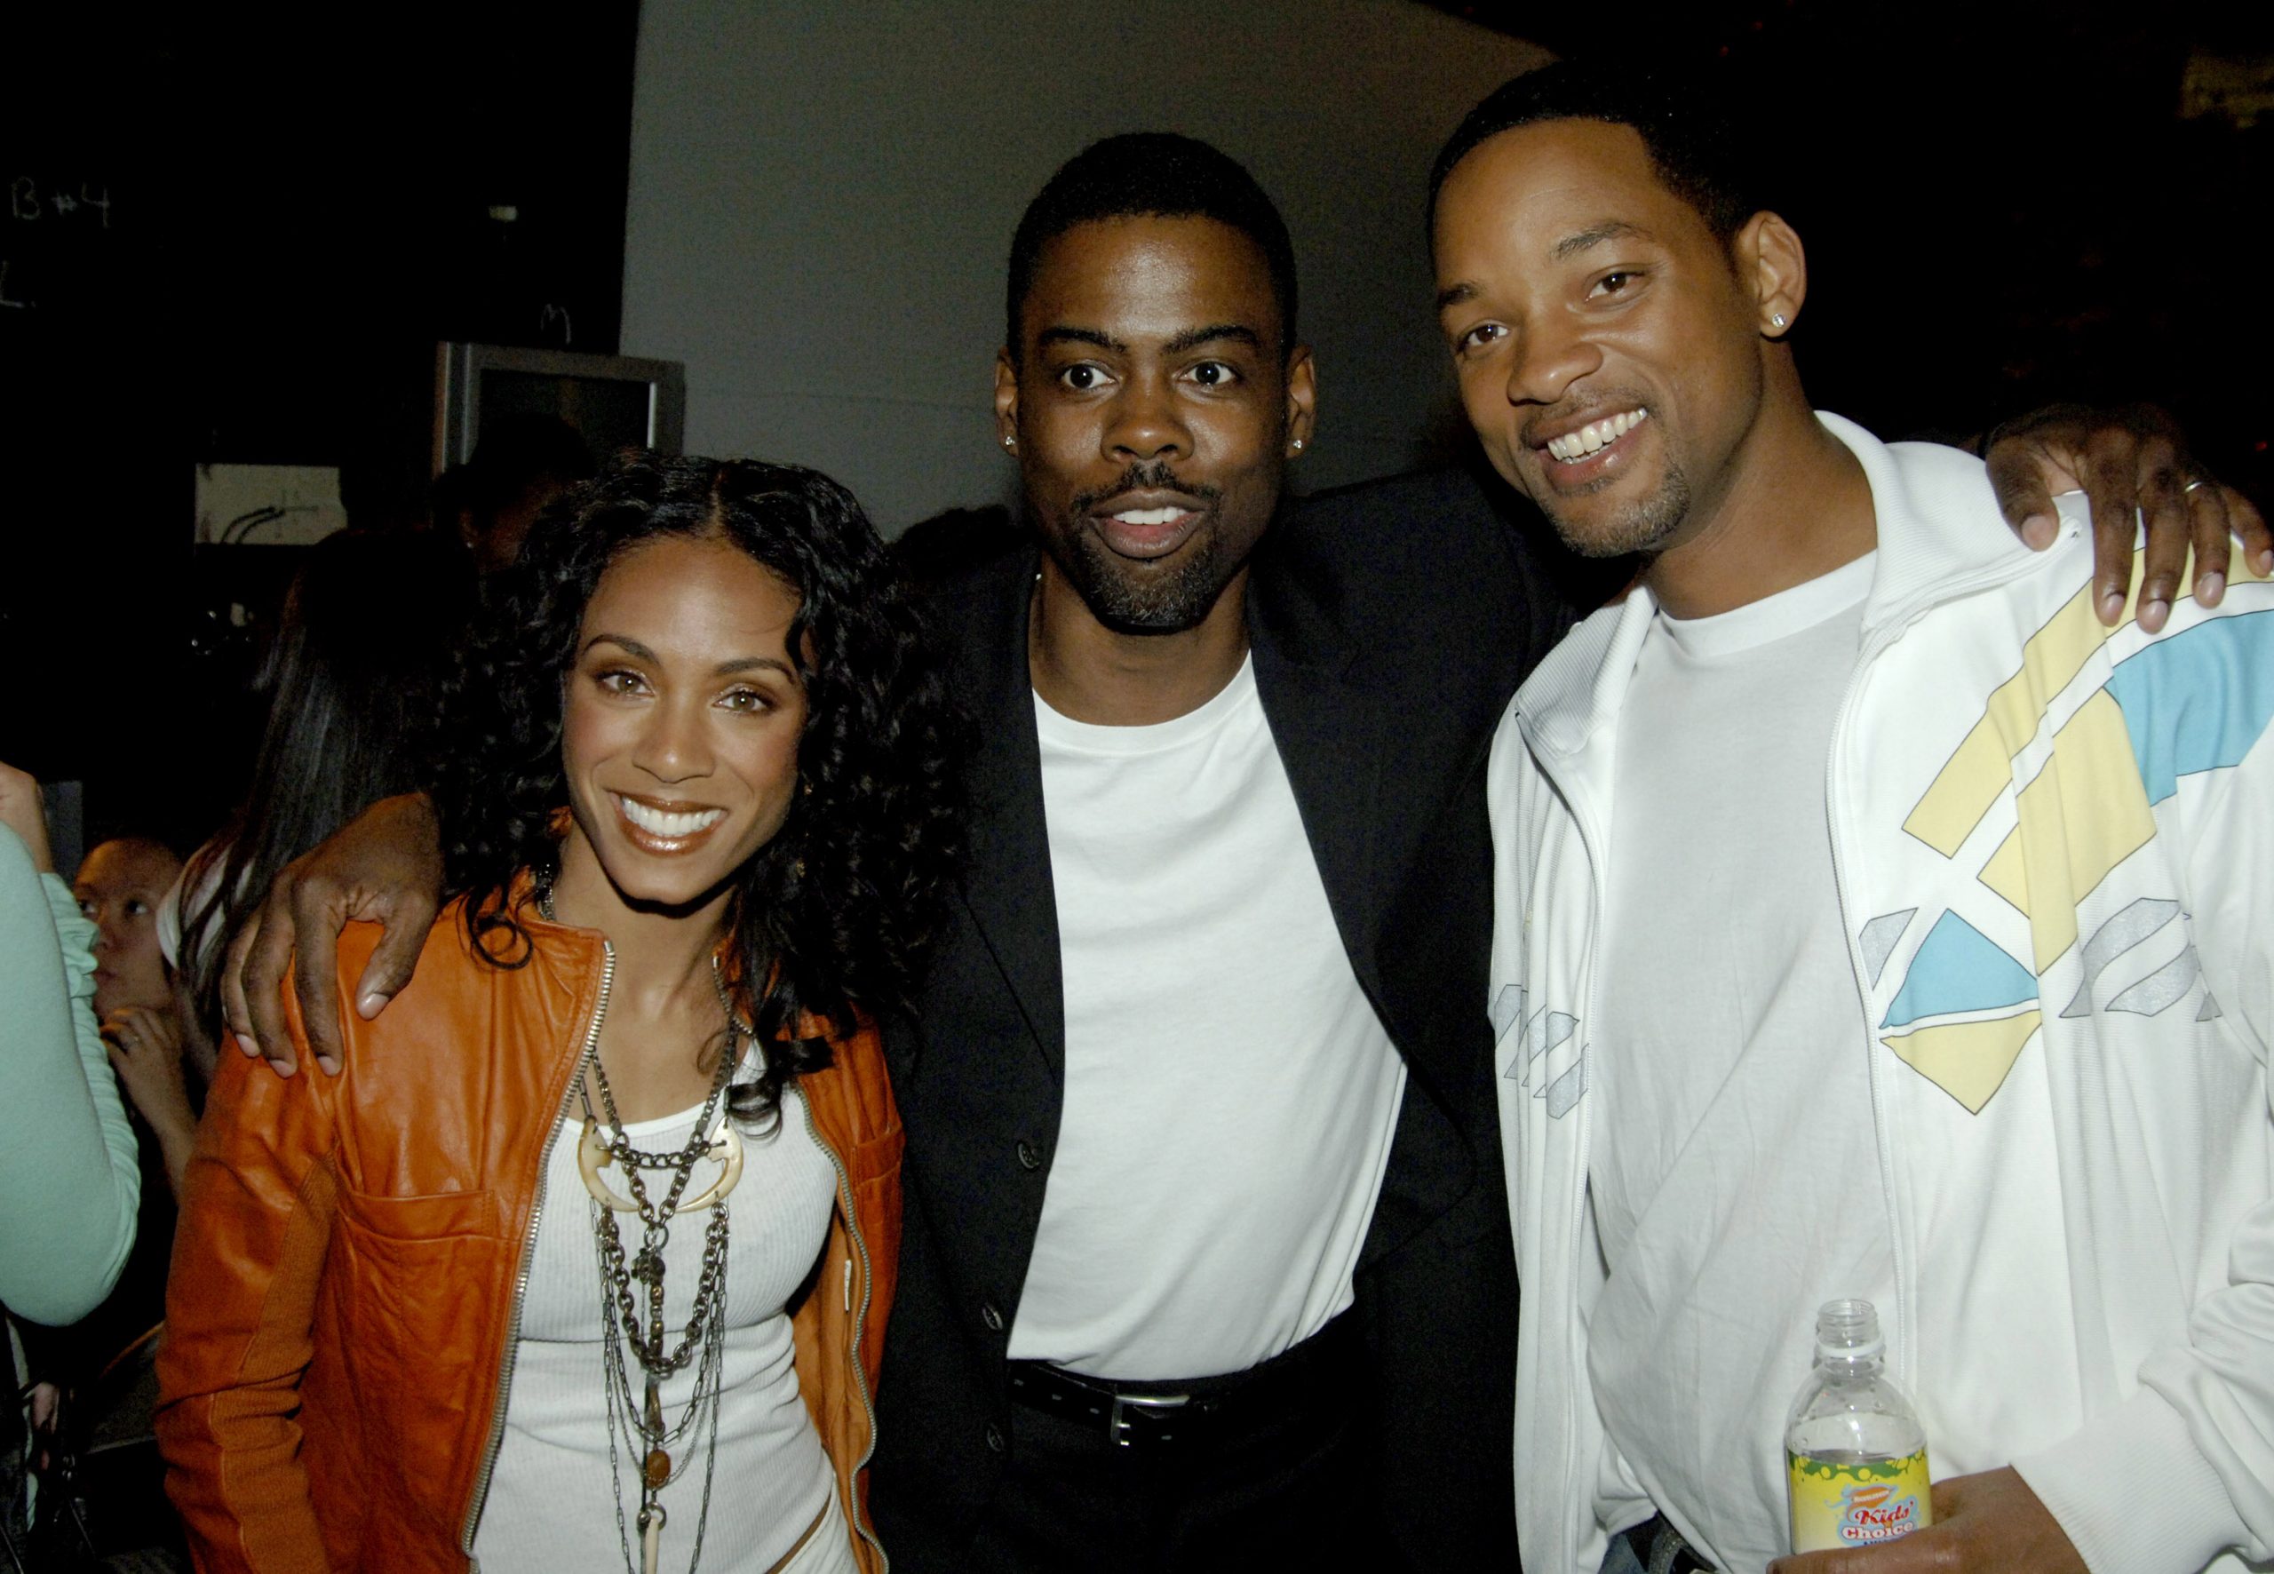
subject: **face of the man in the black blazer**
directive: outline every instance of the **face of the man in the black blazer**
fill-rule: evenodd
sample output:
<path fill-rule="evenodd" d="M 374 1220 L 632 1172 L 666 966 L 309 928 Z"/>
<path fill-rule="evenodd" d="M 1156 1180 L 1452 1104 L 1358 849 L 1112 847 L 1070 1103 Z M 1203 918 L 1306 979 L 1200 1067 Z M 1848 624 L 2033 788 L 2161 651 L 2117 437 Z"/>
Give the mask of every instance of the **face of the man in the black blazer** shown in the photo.
<path fill-rule="evenodd" d="M 1198 626 L 1271 523 L 1310 434 L 1262 248 L 1214 218 L 1110 218 L 1041 248 L 996 416 L 1028 512 L 1089 612 Z"/>

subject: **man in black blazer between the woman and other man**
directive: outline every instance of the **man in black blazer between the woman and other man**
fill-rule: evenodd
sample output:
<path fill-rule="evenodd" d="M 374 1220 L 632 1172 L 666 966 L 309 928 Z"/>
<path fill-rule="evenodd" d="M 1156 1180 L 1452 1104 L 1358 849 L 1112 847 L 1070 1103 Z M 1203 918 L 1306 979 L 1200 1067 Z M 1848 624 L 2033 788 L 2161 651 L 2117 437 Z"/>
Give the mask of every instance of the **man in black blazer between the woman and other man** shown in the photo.
<path fill-rule="evenodd" d="M 1292 252 L 1262 191 L 1212 148 L 1119 136 L 1060 171 L 1014 241 L 1010 318 L 996 407 L 1037 541 L 932 587 L 978 753 L 964 901 L 916 1019 L 887 1039 L 910 1149 L 878 1394 L 882 1542 L 903 1569 L 1298 1567 L 1335 1554 L 1508 1565 L 1514 1262 L 1478 1005 L 1489 860 L 1474 769 L 1571 603 L 1462 475 L 1358 487 L 1280 519 L 1312 403 Z M 1280 964 L 1355 980 L 1353 1012 L 1371 1008 L 1380 1053 L 1403 1067 L 1401 1092 L 1394 1074 L 1369 1083 L 1387 1087 L 1385 1142 L 1353 1151 L 1376 1169 L 1351 1176 L 1355 1192 L 1321 1187 L 1305 1199 L 1312 1217 L 1296 1219 L 1244 1212 L 1285 1199 L 1269 1178 L 1221 1174 L 1205 1142 L 1160 1130 L 1182 1130 L 1194 1101 L 1226 1090 L 1128 1021 L 1151 1010 L 1092 1017 L 1092 1037 L 1112 1042 L 1087 1053 L 1144 1055 L 1173 1067 L 1176 1083 L 1139 1078 L 1130 1096 L 1148 1108 L 1135 1112 L 1078 1119 L 1069 1108 L 1067 958 L 1098 969 L 1094 937 L 1069 926 L 1117 914 L 1064 889 L 1096 871 L 1080 828 L 1060 821 L 1082 805 L 1053 794 L 1037 716 L 1051 735 L 1071 721 L 1135 739 L 1221 707 L 1242 669 L 1333 914 L 1305 942 L 1333 955 Z M 1260 792 L 1251 778 L 1233 789 Z M 1135 837 L 1139 867 L 1171 860 L 1187 819 L 1246 812 L 1212 794 L 1207 780 L 1164 794 L 1112 835 Z M 1069 835 L 1078 853 L 1060 867 Z M 1442 878 L 1392 937 L 1392 898 L 1424 858 Z M 1207 901 L 1201 887 L 1126 898 L 1169 928 L 1207 919 L 1180 912 Z M 1123 978 L 1119 999 L 1157 992 L 1167 1012 L 1192 989 L 1273 987 L 1237 976 L 1276 971 L 1237 937 L 1196 967 L 1217 976 Z M 1080 1035 L 1085 1017 L 1073 1021 Z M 1264 1042 L 1207 1055 L 1230 1067 L 1303 1049 L 1269 1042 L 1267 1026 Z M 1076 1103 L 1082 1055 L 1076 1044 Z M 1092 1071 L 1087 1085 L 1110 1076 Z M 1235 1112 L 1239 1142 L 1253 1133 L 1289 1162 L 1335 1142 L 1333 1115 L 1303 1101 Z M 1198 1155 L 1160 1160 L 1182 1167 L 1178 1217 L 1146 1212 L 1155 1142 Z M 1037 1253 L 1060 1185 L 1089 1199 L 1089 1240 Z M 1205 1194 L 1242 1185 L 1255 1196 Z M 1101 1219 L 1101 1206 L 1112 1210 L 1101 1187 L 1128 1192 L 1126 1221 Z M 1358 1233 L 1328 1242 L 1333 1260 L 1301 1265 L 1346 1274 L 1348 1310 L 1310 1326 L 1333 1310 L 1328 1294 L 1310 1322 L 1160 1340 L 1157 1328 L 1117 1335 L 1114 1306 L 1085 1306 L 1105 1297 L 1098 1276 L 1130 1269 L 1137 1281 L 1217 1274 L 1226 1283 L 1194 1287 L 1207 1306 L 1233 1322 L 1269 1315 L 1258 1301 L 1271 1287 L 1237 1283 L 1246 1265 L 1212 1265 L 1214 1242 L 1160 1240 L 1212 1208 L 1276 1235 L 1333 1235 L 1333 1215 L 1355 1208 Z M 1258 1262 L 1267 1246 L 1258 1240 Z M 1160 1322 L 1180 1315 L 1178 1290 L 1162 1290 Z M 1055 1308 L 1048 1328 L 1023 1322 L 1035 1297 Z M 1107 1324 L 1096 1340 L 1085 1312 Z M 1244 1365 L 1219 1369 L 1226 1351 Z M 1121 1369 L 1117 1353 L 1155 1369 Z"/>

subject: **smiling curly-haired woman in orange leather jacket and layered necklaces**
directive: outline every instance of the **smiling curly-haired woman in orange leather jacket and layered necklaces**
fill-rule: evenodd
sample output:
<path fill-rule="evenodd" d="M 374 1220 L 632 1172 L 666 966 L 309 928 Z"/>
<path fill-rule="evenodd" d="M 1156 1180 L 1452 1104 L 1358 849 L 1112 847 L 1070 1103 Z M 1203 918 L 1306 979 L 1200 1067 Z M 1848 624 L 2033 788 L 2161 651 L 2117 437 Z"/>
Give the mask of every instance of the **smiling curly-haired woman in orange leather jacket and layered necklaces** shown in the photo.
<path fill-rule="evenodd" d="M 873 530 L 810 471 L 623 455 L 446 721 L 416 976 L 346 1010 L 357 926 L 339 1074 L 230 1055 L 207 1105 L 159 1356 L 198 1567 L 875 1574 L 871 1012 L 957 830 Z"/>

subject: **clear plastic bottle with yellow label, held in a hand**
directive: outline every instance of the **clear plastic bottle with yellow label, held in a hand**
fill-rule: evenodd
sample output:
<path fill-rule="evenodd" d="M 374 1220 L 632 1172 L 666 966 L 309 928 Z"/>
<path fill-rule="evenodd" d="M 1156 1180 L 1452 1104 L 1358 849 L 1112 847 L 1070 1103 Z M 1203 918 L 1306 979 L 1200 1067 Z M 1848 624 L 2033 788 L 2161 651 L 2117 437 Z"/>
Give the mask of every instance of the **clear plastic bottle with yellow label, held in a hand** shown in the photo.
<path fill-rule="evenodd" d="M 1826 1301 L 1817 1360 L 1785 1422 L 1792 1551 L 1892 1542 L 1935 1519 L 1926 1428 L 1885 1372 L 1869 1301 Z"/>

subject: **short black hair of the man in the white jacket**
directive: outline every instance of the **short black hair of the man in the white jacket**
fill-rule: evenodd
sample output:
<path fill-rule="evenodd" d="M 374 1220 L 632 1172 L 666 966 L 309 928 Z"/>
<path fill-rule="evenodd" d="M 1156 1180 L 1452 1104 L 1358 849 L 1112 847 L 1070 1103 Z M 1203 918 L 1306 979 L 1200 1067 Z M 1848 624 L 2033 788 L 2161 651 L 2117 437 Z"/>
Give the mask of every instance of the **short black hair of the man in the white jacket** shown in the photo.
<path fill-rule="evenodd" d="M 1690 202 L 1724 241 L 1762 209 L 1735 118 L 1687 71 L 1635 71 L 1565 59 L 1492 89 L 1455 127 L 1428 173 L 1428 218 L 1446 175 L 1501 132 L 1539 121 L 1630 125 L 1667 191 Z"/>

